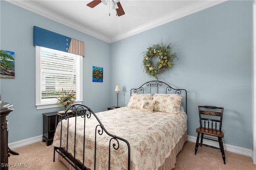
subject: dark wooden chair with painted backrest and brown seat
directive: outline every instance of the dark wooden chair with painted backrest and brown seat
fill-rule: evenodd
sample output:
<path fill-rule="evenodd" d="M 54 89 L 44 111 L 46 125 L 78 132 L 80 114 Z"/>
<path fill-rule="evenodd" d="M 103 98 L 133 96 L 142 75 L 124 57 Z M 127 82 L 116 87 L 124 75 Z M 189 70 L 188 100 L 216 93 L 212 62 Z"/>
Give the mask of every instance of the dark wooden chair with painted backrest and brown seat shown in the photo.
<path fill-rule="evenodd" d="M 198 135 L 196 139 L 195 154 L 197 152 L 199 145 L 200 147 L 204 145 L 206 147 L 220 149 L 224 164 L 226 164 L 225 153 L 224 153 L 224 148 L 222 143 L 222 138 L 224 137 L 224 133 L 221 131 L 223 109 L 224 109 L 223 107 L 215 107 L 215 106 L 198 106 L 200 127 L 196 129 L 196 132 L 198 133 Z M 200 134 L 201 134 L 201 141 L 200 143 L 198 143 Z M 218 140 L 206 138 L 204 137 L 204 135 L 210 135 L 213 138 L 218 137 Z M 218 147 L 203 144 L 203 139 L 218 141 L 220 147 L 218 148 Z"/>

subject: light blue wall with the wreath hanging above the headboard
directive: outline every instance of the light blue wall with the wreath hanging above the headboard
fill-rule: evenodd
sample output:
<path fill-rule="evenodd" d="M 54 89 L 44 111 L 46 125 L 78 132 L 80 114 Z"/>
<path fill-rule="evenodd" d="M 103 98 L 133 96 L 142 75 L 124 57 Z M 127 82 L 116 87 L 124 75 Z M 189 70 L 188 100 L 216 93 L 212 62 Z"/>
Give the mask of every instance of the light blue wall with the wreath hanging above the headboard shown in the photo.
<path fill-rule="evenodd" d="M 131 88 L 153 79 L 140 54 L 162 39 L 178 60 L 160 80 L 188 91 L 188 135 L 197 135 L 199 105 L 224 107 L 224 143 L 253 149 L 252 4 L 224 2 L 112 43 L 112 82 L 125 88 L 119 106 L 128 104 Z"/>

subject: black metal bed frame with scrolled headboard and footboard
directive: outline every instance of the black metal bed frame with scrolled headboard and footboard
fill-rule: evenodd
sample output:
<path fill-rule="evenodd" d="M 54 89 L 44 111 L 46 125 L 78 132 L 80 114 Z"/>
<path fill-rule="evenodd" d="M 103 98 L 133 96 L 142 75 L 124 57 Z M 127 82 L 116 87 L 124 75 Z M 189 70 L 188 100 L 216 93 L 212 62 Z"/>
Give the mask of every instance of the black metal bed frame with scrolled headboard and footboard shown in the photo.
<path fill-rule="evenodd" d="M 187 112 L 187 92 L 185 89 L 175 89 L 172 88 L 171 86 L 169 86 L 168 84 L 161 82 L 161 81 L 149 81 L 146 82 L 144 84 L 142 84 L 142 86 L 140 86 L 139 88 L 134 88 L 131 89 L 131 95 L 132 93 L 141 93 L 144 94 L 145 92 L 148 93 L 152 93 L 152 92 L 156 92 L 159 93 L 160 92 L 160 87 L 163 86 L 163 89 L 165 90 L 165 94 L 168 93 L 173 93 L 173 94 L 182 94 L 183 98 L 185 97 L 185 112 Z M 149 87 L 149 89 L 148 89 Z M 165 87 L 165 88 L 164 88 Z M 148 90 L 144 90 L 144 89 L 148 89 Z M 162 93 L 164 93 L 162 92 Z M 67 113 L 67 111 L 71 109 L 72 113 Z M 94 111 L 92 111 L 89 107 L 81 105 L 81 104 L 74 104 L 72 106 L 70 106 L 67 111 L 63 114 L 59 114 L 57 113 L 56 115 L 56 126 L 58 125 L 58 123 L 61 123 L 61 135 L 60 135 L 60 146 L 61 146 L 61 139 L 62 139 L 62 120 L 67 120 L 69 123 L 69 117 L 74 117 L 75 119 L 75 129 L 76 129 L 76 118 L 81 116 L 82 118 L 84 118 L 84 126 L 85 126 L 85 122 L 86 122 L 86 118 L 90 119 L 91 115 L 93 114 L 94 117 L 97 119 L 98 121 L 98 125 L 96 125 L 95 127 L 95 144 L 94 144 L 94 169 L 96 169 L 96 137 L 97 135 L 102 135 L 104 132 L 109 135 L 111 137 L 110 141 L 109 141 L 109 156 L 108 156 L 108 169 L 110 170 L 110 148 L 113 147 L 115 150 L 119 149 L 119 142 L 120 141 L 124 141 L 128 147 L 128 167 L 127 169 L 130 170 L 130 144 L 128 141 L 126 141 L 126 139 L 123 139 L 121 137 L 118 137 L 116 135 L 112 135 L 110 133 L 108 133 L 108 131 L 104 128 L 104 125 L 102 125 L 101 121 L 98 119 L 97 115 L 94 113 Z M 68 129 L 67 129 L 67 134 L 68 134 Z M 84 134 L 85 134 L 85 129 L 84 129 Z M 68 135 L 67 135 L 68 138 Z M 76 131 L 74 133 L 74 138 L 76 140 Z M 85 135 L 84 135 L 84 139 L 85 139 Z M 111 141 L 114 140 L 113 145 L 111 146 L 110 143 Z M 85 143 L 85 140 L 84 140 Z M 85 147 L 83 149 L 83 162 L 80 162 L 78 160 L 76 160 L 76 155 L 74 154 L 74 156 L 72 156 L 71 154 L 68 153 L 68 139 L 67 139 L 67 143 L 66 145 L 66 149 L 63 149 L 62 147 L 54 147 L 54 156 L 53 156 L 53 161 L 55 162 L 55 152 L 57 152 L 58 154 L 60 154 L 60 156 L 62 156 L 62 158 L 64 158 L 72 167 L 74 167 L 76 170 L 81 169 L 81 170 L 88 170 L 89 168 L 86 168 L 86 165 L 84 164 L 84 158 L 85 158 Z M 76 153 L 76 143 L 74 143 L 74 153 Z M 71 162 L 70 162 L 71 161 Z M 72 164 L 73 163 L 73 164 Z"/>

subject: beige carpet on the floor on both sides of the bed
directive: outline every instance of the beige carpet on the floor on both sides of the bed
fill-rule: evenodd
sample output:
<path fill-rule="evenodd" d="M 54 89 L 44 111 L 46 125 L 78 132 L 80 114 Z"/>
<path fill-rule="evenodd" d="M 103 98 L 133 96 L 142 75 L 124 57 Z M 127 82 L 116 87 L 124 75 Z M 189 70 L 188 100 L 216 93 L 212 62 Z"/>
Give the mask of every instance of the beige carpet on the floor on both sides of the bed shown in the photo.
<path fill-rule="evenodd" d="M 223 163 L 220 150 L 199 147 L 194 154 L 195 143 L 186 142 L 177 156 L 177 163 L 173 170 L 256 170 L 249 156 L 225 151 L 226 165 Z M 9 170 L 67 170 L 66 166 L 55 157 L 53 162 L 53 146 L 46 146 L 45 142 L 14 149 L 19 155 L 9 157 L 9 163 L 23 164 L 27 167 L 9 167 Z"/>

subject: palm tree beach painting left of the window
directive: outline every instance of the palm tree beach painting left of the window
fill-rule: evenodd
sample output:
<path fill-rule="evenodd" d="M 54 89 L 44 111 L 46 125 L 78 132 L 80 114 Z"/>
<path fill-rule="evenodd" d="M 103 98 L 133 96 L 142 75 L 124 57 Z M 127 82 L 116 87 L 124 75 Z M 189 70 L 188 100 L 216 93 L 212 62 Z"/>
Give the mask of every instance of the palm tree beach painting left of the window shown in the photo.
<path fill-rule="evenodd" d="M 14 78 L 14 52 L 0 50 L 0 77 Z"/>

